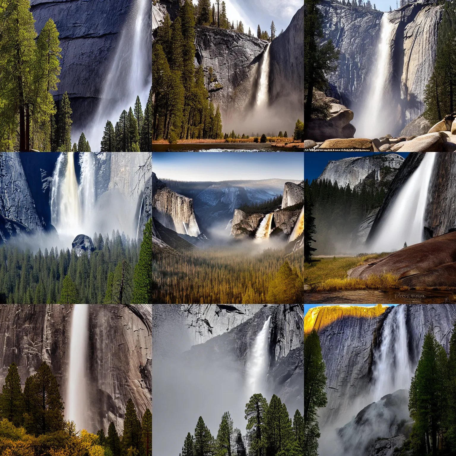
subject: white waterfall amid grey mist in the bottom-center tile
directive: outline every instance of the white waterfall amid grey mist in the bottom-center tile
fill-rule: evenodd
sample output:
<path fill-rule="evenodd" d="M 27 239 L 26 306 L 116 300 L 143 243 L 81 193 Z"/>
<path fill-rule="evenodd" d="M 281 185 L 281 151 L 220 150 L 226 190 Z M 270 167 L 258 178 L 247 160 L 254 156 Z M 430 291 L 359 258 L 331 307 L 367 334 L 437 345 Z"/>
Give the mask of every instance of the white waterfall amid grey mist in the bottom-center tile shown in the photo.
<path fill-rule="evenodd" d="M 258 333 L 247 363 L 247 389 L 249 397 L 255 393 L 264 394 L 266 375 L 269 368 L 269 323 L 271 317 L 264 322 L 263 329 Z"/>

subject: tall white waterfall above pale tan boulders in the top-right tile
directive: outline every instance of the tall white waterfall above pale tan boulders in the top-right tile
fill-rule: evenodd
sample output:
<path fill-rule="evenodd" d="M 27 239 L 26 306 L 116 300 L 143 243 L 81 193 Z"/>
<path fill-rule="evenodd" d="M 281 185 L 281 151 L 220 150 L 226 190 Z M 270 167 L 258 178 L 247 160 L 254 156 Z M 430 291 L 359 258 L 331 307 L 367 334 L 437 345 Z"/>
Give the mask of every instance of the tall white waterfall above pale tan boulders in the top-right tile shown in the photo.
<path fill-rule="evenodd" d="M 369 90 L 363 97 L 364 104 L 359 113 L 355 112 L 353 124 L 359 138 L 378 138 L 386 135 L 391 125 L 392 116 L 389 115 L 388 76 L 391 69 L 391 39 L 393 24 L 389 21 L 388 13 L 383 13 L 380 25 L 380 38 L 377 46 L 375 67 L 370 74 Z"/>

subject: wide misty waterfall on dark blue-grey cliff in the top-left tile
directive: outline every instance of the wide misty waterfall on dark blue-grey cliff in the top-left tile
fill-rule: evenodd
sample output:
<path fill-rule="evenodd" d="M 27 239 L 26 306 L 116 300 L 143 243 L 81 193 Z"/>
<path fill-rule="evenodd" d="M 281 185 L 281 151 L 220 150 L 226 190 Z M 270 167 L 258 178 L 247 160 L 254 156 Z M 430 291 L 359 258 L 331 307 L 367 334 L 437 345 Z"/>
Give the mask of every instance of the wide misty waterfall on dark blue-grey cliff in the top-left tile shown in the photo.
<path fill-rule="evenodd" d="M 152 84 L 150 69 L 150 0 L 136 0 L 117 44 L 114 60 L 103 86 L 88 140 L 98 147 L 107 120 L 113 125 L 125 109 L 133 108 L 139 95 L 144 110 Z"/>

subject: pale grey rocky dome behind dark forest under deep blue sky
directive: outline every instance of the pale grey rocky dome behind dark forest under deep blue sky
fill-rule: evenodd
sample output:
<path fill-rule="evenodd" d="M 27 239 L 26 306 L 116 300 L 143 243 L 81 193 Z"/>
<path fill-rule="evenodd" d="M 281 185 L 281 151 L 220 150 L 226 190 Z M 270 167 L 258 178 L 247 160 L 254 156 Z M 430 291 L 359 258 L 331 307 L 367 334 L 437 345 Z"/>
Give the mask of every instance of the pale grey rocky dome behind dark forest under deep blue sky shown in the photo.
<path fill-rule="evenodd" d="M 328 179 L 333 184 L 337 182 L 339 187 L 353 188 L 363 181 L 372 171 L 379 171 L 383 167 L 399 169 L 404 158 L 397 154 L 388 154 L 381 157 L 353 157 L 341 160 L 329 161 L 321 173 L 319 180 Z"/>

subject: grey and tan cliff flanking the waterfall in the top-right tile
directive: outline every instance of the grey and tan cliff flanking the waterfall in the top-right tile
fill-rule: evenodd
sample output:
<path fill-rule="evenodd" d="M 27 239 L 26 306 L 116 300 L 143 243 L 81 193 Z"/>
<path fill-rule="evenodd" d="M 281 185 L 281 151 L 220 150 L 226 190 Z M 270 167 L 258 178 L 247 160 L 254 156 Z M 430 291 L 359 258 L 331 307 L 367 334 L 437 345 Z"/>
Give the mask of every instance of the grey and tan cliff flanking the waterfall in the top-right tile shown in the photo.
<path fill-rule="evenodd" d="M 326 0 L 321 10 L 325 37 L 332 38 L 341 50 L 338 68 L 329 81 L 337 87 L 342 103 L 352 108 L 366 96 L 383 13 Z M 420 0 L 385 14 L 393 24 L 388 87 L 392 98 L 398 100 L 397 122 L 402 129 L 424 111 L 424 90 L 434 70 L 442 6 Z"/>

